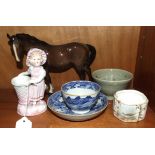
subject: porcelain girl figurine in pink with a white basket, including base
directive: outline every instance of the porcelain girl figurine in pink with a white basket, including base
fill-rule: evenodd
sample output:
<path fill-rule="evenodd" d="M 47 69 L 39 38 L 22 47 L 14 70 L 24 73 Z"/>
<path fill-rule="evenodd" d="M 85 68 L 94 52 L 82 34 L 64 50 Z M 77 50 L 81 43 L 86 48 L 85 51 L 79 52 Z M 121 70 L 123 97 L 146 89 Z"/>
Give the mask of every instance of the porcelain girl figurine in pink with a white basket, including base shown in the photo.
<path fill-rule="evenodd" d="M 46 71 L 42 65 L 47 56 L 43 50 L 33 48 L 28 51 L 26 65 L 29 69 L 12 79 L 19 98 L 17 112 L 22 116 L 33 116 L 47 109 L 43 99 Z"/>

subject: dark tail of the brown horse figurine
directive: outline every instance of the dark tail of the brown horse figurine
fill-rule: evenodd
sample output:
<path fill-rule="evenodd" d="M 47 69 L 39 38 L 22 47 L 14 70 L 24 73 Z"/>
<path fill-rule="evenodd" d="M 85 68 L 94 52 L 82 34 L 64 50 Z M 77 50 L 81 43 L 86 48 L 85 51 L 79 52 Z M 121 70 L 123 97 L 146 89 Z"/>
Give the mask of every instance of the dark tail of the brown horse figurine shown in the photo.
<path fill-rule="evenodd" d="M 86 44 L 89 49 L 88 65 L 90 66 L 96 57 L 96 49 L 94 46 Z"/>

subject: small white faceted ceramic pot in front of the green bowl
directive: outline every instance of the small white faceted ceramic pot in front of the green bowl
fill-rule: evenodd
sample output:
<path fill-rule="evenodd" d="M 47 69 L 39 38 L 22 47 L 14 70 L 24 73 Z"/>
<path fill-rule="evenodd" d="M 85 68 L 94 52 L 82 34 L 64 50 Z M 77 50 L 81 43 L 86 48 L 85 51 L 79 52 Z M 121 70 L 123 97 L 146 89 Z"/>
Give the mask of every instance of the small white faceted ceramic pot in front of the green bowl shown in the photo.
<path fill-rule="evenodd" d="M 147 97 L 136 90 L 122 90 L 114 95 L 113 113 L 124 122 L 137 122 L 145 118 Z"/>

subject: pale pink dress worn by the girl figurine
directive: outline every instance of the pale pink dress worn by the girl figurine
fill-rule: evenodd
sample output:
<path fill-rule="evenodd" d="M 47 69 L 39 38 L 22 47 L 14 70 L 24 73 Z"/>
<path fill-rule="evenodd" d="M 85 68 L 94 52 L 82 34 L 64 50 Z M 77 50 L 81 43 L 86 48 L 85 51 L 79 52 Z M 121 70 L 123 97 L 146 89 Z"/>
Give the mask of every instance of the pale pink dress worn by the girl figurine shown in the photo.
<path fill-rule="evenodd" d="M 33 67 L 28 70 L 31 75 L 31 80 L 38 80 L 41 78 L 41 81 L 38 83 L 30 84 L 28 88 L 28 99 L 31 102 L 37 102 L 43 99 L 45 92 L 45 82 L 44 82 L 44 69 L 42 66 Z M 42 77 L 41 77 L 42 76 Z"/>

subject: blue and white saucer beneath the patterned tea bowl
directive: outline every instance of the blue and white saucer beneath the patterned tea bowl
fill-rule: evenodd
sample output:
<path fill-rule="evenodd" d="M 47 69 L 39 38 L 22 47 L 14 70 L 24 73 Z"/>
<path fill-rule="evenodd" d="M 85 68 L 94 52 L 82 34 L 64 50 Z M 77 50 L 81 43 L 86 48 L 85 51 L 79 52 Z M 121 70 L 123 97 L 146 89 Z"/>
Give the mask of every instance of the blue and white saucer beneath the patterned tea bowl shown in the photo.
<path fill-rule="evenodd" d="M 61 91 L 52 94 L 47 101 L 47 106 L 57 116 L 70 121 L 85 121 L 98 116 L 108 105 L 107 97 L 100 93 L 99 99 L 94 107 L 88 113 L 77 114 L 69 109 L 62 98 Z"/>

